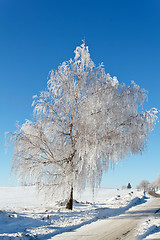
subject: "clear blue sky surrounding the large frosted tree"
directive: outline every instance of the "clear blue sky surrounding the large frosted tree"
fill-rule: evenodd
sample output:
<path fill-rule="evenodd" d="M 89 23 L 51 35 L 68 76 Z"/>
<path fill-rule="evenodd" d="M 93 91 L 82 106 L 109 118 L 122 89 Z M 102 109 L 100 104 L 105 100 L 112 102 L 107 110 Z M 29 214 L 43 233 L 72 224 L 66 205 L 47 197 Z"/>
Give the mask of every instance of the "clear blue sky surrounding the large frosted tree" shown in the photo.
<path fill-rule="evenodd" d="M 10 178 L 12 149 L 4 133 L 32 118 L 32 96 L 46 87 L 48 72 L 74 57 L 85 39 L 91 58 L 120 82 L 148 90 L 146 108 L 160 109 L 159 0 L 0 0 L 0 186 Z M 117 187 L 160 173 L 160 124 L 146 152 L 109 170 L 103 187 Z"/>

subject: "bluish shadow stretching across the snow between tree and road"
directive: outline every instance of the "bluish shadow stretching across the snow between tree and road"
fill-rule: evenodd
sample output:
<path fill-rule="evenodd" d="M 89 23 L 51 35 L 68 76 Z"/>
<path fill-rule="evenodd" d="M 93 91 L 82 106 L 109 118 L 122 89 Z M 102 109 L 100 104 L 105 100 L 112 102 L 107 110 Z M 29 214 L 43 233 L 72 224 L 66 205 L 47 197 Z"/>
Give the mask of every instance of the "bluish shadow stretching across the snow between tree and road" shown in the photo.
<path fill-rule="evenodd" d="M 71 226 L 66 226 L 66 227 L 58 227 L 58 226 L 54 226 L 53 223 L 56 219 L 59 218 L 59 213 L 58 212 L 47 212 L 47 213 L 39 213 L 36 215 L 36 217 L 33 215 L 32 216 L 28 216 L 25 213 L 16 213 L 16 212 L 6 212 L 6 211 L 1 211 L 0 212 L 0 234 L 3 233 L 17 233 L 20 232 L 22 234 L 23 237 L 21 238 L 17 238 L 16 239 L 51 239 L 52 237 L 64 233 L 64 232 L 71 232 L 71 231 L 75 231 L 76 229 L 90 224 L 92 222 L 96 222 L 98 219 L 107 219 L 109 217 L 114 217 L 114 216 L 118 216 L 121 214 L 124 214 L 126 211 L 128 211 L 131 207 L 136 206 L 136 205 L 140 205 L 145 203 L 147 200 L 146 197 L 142 197 L 141 199 L 136 197 L 134 198 L 127 206 L 125 207 L 121 207 L 121 208 L 95 208 L 95 209 L 91 209 L 91 210 L 87 210 L 89 213 L 93 213 L 94 217 L 83 221 L 79 224 L 76 225 L 71 225 Z M 74 215 L 79 216 L 79 217 L 83 217 L 83 214 L 85 216 L 86 211 L 80 211 L 80 212 L 76 212 L 76 211 L 72 211 L 72 212 L 61 212 L 61 217 L 68 217 L 71 218 Z M 47 218 L 47 214 L 51 215 L 51 218 Z M 143 213 L 138 213 L 138 214 L 143 214 Z M 18 216 L 17 216 L 18 215 Z M 42 215 L 44 215 L 44 218 L 42 218 Z M 38 218 L 37 218 L 38 216 Z M 49 216 L 49 215 L 48 215 Z M 51 222 L 52 220 L 52 216 L 53 216 L 53 223 Z M 15 223 L 14 221 L 16 221 L 16 227 L 15 227 Z M 1 225 L 1 222 L 3 222 L 3 224 Z M 5 225 L 6 222 L 6 226 Z M 3 228 L 4 227 L 4 228 Z M 30 229 L 34 229 L 34 228 L 44 228 L 46 231 L 44 234 L 39 234 L 37 233 L 36 235 L 33 236 L 33 234 L 30 233 Z M 48 229 L 48 230 L 47 230 Z M 48 233 L 47 233 L 48 231 Z M 53 232 L 52 232 L 53 231 Z M 7 236 L 3 236 L 3 239 L 12 239 L 12 237 L 7 237 Z M 15 239 L 15 237 L 13 237 L 13 239 Z"/>

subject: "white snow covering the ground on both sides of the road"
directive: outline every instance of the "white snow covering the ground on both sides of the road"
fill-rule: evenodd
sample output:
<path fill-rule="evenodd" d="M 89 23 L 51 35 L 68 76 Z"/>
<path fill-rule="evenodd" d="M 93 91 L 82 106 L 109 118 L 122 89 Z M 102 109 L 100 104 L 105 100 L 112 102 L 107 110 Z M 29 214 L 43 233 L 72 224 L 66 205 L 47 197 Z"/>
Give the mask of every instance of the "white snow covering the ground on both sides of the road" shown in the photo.
<path fill-rule="evenodd" d="M 37 198 L 34 187 L 0 188 L 0 239 L 54 239 L 66 231 L 118 216 L 140 203 L 143 194 L 136 190 L 99 189 L 94 194 L 87 189 L 75 195 L 73 211 L 66 210 L 63 202 L 49 204 L 43 196 Z M 137 229 L 139 239 L 150 233 L 157 237 L 160 220 L 147 218 Z M 160 236 L 160 235 L 159 235 Z M 154 238 L 152 238 L 154 239 Z"/>

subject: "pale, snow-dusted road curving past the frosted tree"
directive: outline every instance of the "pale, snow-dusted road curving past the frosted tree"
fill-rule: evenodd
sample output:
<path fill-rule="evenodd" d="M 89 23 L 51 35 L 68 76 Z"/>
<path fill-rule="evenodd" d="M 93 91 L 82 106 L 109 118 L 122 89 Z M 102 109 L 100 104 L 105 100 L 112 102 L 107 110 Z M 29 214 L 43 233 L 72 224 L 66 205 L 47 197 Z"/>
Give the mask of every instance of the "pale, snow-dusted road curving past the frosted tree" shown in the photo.
<path fill-rule="evenodd" d="M 134 240 L 136 227 L 148 216 L 160 216 L 160 199 L 149 199 L 125 214 L 93 222 L 75 231 L 54 236 L 54 240 Z"/>

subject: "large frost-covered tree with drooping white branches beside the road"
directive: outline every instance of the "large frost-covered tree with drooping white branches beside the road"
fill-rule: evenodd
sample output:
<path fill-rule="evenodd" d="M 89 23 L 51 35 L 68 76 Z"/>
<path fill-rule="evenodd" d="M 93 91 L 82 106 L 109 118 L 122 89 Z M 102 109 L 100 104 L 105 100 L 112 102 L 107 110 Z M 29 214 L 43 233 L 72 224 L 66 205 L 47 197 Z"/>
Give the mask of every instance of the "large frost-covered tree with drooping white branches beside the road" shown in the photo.
<path fill-rule="evenodd" d="M 73 189 L 100 186 L 109 164 L 145 150 L 157 119 L 156 109 L 143 111 L 146 98 L 134 82 L 119 84 L 96 66 L 83 43 L 34 97 L 34 120 L 12 134 L 12 170 L 72 209 Z"/>

